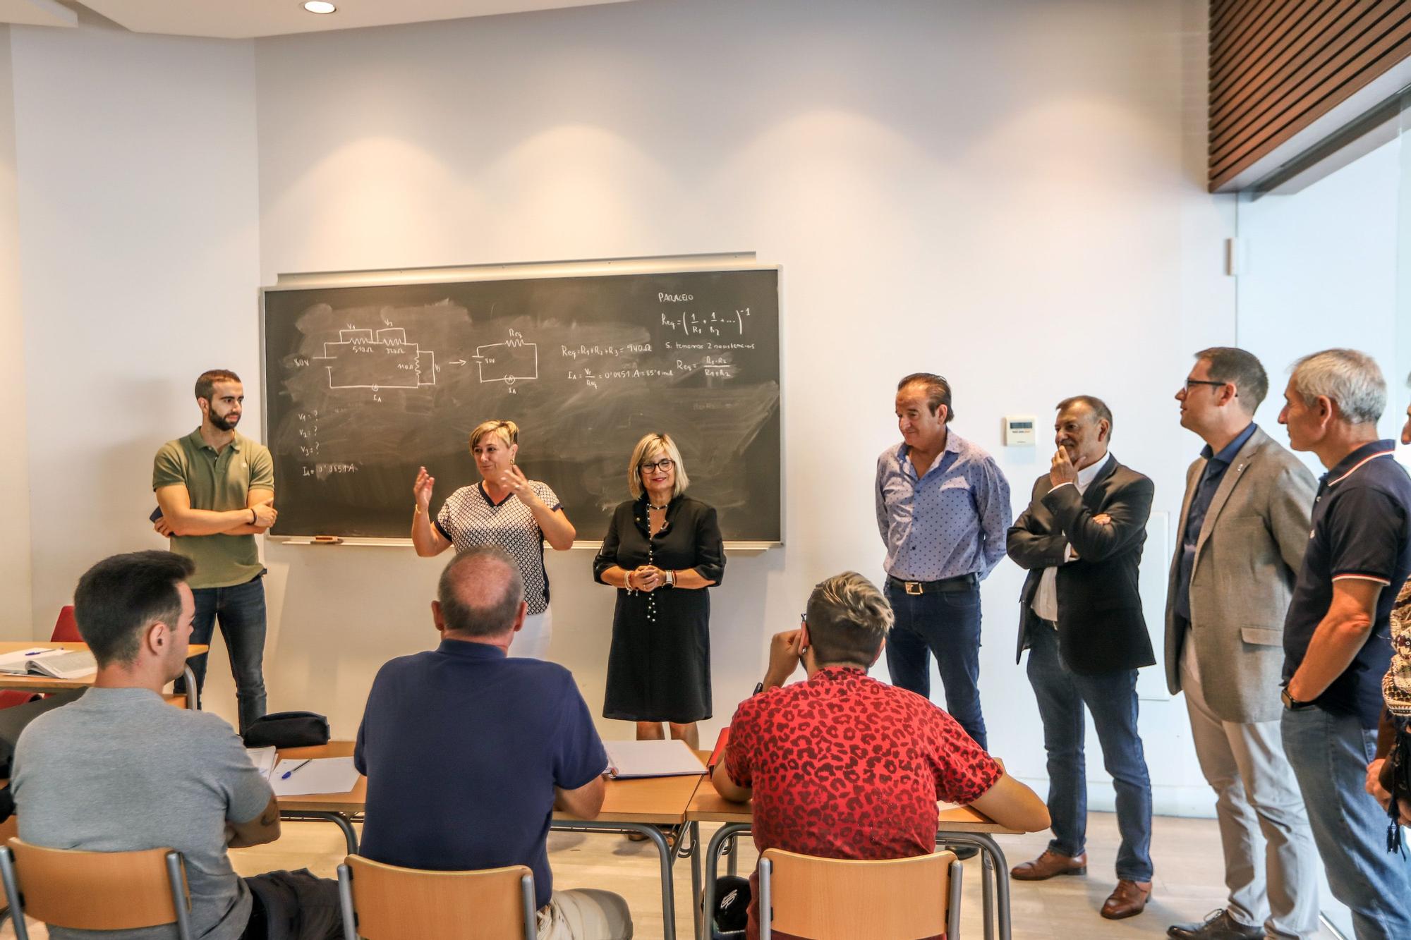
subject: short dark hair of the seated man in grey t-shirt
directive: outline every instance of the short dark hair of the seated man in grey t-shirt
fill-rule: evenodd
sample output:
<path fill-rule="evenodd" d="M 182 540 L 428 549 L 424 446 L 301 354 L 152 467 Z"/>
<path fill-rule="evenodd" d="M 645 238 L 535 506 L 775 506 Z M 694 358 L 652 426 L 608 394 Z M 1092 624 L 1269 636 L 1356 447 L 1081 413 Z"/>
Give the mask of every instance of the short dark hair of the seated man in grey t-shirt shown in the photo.
<path fill-rule="evenodd" d="M 130 663 L 141 632 L 181 620 L 178 584 L 196 570 L 195 562 L 174 552 L 128 552 L 106 558 L 79 579 L 73 618 L 97 665 Z"/>

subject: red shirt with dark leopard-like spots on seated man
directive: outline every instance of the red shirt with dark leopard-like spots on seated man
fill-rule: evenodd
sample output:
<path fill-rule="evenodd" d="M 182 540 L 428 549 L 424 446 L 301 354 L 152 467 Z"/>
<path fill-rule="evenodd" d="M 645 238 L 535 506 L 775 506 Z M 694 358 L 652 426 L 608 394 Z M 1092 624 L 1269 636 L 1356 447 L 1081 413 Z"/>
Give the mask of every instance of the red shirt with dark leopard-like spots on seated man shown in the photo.
<path fill-rule="evenodd" d="M 742 701 L 725 769 L 753 789 L 761 852 L 862 860 L 934 851 L 937 802 L 971 803 L 1003 773 L 950 714 L 855 668 Z"/>

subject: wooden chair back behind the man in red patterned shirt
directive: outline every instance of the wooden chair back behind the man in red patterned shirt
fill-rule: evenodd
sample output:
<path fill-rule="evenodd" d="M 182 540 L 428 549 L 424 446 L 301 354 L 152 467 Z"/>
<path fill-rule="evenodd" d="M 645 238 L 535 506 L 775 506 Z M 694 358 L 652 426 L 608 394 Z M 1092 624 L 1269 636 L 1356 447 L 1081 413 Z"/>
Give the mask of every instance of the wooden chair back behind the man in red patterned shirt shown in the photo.
<path fill-rule="evenodd" d="M 955 852 L 854 861 L 779 848 L 759 860 L 759 940 L 773 930 L 810 940 L 917 940 L 961 927 Z"/>

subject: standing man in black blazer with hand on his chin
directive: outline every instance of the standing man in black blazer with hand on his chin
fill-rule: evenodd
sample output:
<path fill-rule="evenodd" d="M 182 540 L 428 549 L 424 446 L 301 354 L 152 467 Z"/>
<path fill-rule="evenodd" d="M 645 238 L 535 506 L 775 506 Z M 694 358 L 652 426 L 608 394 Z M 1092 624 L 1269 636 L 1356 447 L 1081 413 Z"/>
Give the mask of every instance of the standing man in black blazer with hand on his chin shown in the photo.
<path fill-rule="evenodd" d="M 1041 881 L 1088 871 L 1086 706 L 1118 796 L 1118 886 L 1102 905 L 1102 916 L 1116 920 L 1141 913 L 1151 896 L 1151 781 L 1137 734 L 1136 670 L 1156 663 L 1137 591 L 1154 487 L 1108 453 L 1112 411 L 1102 399 L 1058 402 L 1054 432 L 1051 469 L 1034 483 L 1007 545 L 1029 572 L 1015 661 L 1029 649 L 1054 837 L 1010 874 Z"/>

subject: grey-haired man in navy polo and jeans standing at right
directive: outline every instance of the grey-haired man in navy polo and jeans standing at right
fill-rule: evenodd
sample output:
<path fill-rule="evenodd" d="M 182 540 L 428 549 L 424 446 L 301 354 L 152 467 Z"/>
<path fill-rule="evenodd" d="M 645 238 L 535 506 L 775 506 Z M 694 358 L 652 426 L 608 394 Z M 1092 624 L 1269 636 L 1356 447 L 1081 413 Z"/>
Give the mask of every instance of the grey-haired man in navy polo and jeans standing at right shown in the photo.
<path fill-rule="evenodd" d="M 1328 467 L 1284 621 L 1284 751 L 1357 937 L 1411 937 L 1411 865 L 1387 852 L 1387 816 L 1364 789 L 1391 661 L 1391 605 L 1411 574 L 1411 478 L 1395 443 L 1377 438 L 1387 384 L 1370 356 L 1305 356 L 1284 399 L 1278 421 L 1290 445 Z"/>

